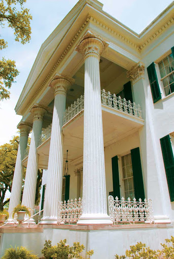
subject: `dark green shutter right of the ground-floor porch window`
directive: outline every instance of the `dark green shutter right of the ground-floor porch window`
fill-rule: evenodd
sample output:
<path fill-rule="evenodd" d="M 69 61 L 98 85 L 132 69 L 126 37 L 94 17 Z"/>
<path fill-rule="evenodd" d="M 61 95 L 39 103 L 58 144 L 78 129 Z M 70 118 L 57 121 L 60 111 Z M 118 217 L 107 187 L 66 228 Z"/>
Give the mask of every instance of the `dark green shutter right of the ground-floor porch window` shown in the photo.
<path fill-rule="evenodd" d="M 145 199 L 145 191 L 143 184 L 142 164 L 140 157 L 140 149 L 134 148 L 131 150 L 132 170 L 133 170 L 133 184 L 135 190 L 135 198 L 138 201 Z"/>

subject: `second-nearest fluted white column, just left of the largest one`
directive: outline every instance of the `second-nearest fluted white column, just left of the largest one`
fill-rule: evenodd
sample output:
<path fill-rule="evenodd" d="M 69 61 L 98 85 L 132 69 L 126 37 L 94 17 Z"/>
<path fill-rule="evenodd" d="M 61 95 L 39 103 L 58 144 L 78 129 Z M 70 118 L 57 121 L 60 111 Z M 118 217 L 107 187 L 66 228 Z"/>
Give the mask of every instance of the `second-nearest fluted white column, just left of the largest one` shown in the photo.
<path fill-rule="evenodd" d="M 57 224 L 58 201 L 62 195 L 63 136 L 62 125 L 66 90 L 74 80 L 56 74 L 49 84 L 54 89 L 54 110 L 48 160 L 48 181 L 44 202 L 44 217 L 40 224 Z"/>

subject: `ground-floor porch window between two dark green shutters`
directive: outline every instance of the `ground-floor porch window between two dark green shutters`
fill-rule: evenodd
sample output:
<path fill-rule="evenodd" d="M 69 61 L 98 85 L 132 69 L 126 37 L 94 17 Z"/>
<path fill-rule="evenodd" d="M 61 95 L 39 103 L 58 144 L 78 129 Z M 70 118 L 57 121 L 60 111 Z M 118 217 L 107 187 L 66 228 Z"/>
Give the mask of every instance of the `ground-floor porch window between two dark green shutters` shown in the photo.
<path fill-rule="evenodd" d="M 123 182 L 124 182 L 124 193 L 125 193 L 125 200 L 128 197 L 133 200 L 135 197 L 134 192 L 134 184 L 133 184 L 133 170 L 132 170 L 132 160 L 131 154 L 127 154 L 121 157 L 122 162 L 122 174 L 123 174 Z"/>

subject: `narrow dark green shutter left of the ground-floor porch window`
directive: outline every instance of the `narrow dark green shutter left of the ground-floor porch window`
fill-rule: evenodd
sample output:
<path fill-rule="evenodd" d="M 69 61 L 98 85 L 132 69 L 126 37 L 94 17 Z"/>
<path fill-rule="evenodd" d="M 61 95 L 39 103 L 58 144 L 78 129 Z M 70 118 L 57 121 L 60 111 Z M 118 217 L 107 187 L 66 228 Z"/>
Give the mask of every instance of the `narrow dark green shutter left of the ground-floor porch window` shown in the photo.
<path fill-rule="evenodd" d="M 113 171 L 113 193 L 114 199 L 117 196 L 120 200 L 120 183 L 118 171 L 118 156 L 112 157 L 112 171 Z"/>

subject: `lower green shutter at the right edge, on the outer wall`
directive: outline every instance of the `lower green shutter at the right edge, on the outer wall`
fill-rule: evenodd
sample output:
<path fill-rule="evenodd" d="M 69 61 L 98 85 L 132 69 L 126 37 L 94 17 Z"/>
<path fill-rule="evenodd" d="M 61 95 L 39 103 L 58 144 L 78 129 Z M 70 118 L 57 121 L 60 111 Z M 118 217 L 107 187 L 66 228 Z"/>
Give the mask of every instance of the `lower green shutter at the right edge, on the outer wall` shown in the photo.
<path fill-rule="evenodd" d="M 167 135 L 161 138 L 160 144 L 167 178 L 168 191 L 170 195 L 170 201 L 174 201 L 174 158 L 170 136 Z"/>

